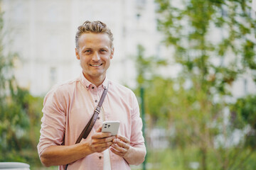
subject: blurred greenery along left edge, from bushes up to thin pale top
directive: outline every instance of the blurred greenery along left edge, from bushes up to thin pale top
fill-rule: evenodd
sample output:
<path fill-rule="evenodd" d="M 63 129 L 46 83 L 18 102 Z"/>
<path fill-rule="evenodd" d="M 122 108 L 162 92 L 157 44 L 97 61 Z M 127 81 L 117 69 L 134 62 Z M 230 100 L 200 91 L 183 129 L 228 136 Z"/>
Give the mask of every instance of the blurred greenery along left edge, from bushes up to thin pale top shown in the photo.
<path fill-rule="evenodd" d="M 6 52 L 5 35 L 0 6 L 0 162 L 40 164 L 36 145 L 43 98 L 31 96 L 16 83 L 13 69 L 18 55 Z"/>

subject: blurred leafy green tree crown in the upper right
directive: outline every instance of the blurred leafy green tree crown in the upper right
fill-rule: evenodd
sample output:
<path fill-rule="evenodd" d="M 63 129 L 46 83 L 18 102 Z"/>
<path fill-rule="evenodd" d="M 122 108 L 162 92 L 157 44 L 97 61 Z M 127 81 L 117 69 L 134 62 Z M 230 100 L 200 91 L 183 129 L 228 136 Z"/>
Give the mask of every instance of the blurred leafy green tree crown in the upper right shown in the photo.
<path fill-rule="evenodd" d="M 159 30 L 166 35 L 166 44 L 175 47 L 176 62 L 196 74 L 202 85 L 207 84 L 208 77 L 221 74 L 219 68 L 233 74 L 228 74 L 228 79 L 215 77 L 215 81 L 229 84 L 237 74 L 247 71 L 248 66 L 255 68 L 255 42 L 251 37 L 256 22 L 250 17 L 249 2 L 191 0 L 180 6 L 175 1 L 156 2 Z M 230 56 L 234 60 L 227 62 Z"/>

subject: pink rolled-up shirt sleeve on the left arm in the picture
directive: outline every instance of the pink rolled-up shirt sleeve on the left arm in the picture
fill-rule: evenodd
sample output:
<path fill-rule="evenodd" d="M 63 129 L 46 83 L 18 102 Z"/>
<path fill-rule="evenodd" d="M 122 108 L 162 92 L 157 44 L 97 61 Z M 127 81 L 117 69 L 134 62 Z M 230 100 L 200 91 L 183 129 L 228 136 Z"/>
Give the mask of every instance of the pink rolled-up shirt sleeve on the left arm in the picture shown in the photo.
<path fill-rule="evenodd" d="M 62 145 L 65 135 L 65 102 L 57 90 L 50 91 L 43 101 L 43 118 L 41 119 L 41 136 L 38 154 L 52 145 Z"/>

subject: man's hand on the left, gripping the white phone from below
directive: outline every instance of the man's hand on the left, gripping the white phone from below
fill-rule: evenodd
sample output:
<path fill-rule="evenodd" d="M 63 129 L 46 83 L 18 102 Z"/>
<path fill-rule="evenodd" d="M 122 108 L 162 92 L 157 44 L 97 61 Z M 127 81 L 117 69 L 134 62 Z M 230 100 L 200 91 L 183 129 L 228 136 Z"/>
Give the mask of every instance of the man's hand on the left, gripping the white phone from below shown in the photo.
<path fill-rule="evenodd" d="M 109 148 L 113 142 L 112 140 L 116 139 L 115 136 L 112 136 L 109 132 L 101 132 L 102 127 L 96 130 L 96 133 L 92 135 L 90 140 L 90 149 L 92 152 L 103 152 L 105 149 Z"/>

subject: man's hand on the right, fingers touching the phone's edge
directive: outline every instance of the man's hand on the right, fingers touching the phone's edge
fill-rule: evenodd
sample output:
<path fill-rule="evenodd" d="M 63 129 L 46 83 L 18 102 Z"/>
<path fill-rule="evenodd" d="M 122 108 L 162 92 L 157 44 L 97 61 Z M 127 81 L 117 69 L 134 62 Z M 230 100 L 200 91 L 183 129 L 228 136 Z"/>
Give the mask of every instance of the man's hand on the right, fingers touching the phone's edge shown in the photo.
<path fill-rule="evenodd" d="M 122 135 L 117 135 L 117 139 L 114 139 L 113 142 L 111 151 L 120 157 L 124 157 L 130 148 L 130 141 Z"/>

